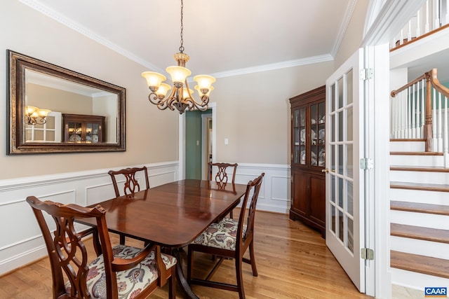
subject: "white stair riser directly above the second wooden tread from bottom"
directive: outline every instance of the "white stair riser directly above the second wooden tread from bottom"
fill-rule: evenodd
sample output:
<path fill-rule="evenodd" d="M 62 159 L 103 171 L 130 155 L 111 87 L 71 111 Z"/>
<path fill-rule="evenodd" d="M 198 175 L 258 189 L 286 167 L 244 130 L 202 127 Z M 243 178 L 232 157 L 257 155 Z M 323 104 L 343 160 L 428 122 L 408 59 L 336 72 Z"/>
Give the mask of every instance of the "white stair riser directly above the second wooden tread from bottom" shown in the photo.
<path fill-rule="evenodd" d="M 445 215 L 392 210 L 390 213 L 390 222 L 422 226 L 423 228 L 438 228 L 441 230 L 449 230 L 449 217 Z"/>

